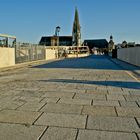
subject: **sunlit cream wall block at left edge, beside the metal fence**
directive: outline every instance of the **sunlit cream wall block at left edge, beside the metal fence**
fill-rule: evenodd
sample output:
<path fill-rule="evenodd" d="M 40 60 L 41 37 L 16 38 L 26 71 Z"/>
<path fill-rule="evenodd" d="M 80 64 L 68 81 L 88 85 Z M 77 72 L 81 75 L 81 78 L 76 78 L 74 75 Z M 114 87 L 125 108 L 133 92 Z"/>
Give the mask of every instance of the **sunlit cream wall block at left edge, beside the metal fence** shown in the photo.
<path fill-rule="evenodd" d="M 0 47 L 0 68 L 15 65 L 15 49 Z"/>

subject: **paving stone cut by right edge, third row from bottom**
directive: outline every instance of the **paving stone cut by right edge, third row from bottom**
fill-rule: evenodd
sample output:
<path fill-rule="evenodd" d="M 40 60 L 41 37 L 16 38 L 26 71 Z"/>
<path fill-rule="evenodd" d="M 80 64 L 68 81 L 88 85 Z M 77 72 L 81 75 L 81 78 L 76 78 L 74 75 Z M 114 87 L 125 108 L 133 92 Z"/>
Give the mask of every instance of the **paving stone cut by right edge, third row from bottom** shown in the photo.
<path fill-rule="evenodd" d="M 138 107 L 116 107 L 118 116 L 122 117 L 140 117 L 140 108 Z"/>

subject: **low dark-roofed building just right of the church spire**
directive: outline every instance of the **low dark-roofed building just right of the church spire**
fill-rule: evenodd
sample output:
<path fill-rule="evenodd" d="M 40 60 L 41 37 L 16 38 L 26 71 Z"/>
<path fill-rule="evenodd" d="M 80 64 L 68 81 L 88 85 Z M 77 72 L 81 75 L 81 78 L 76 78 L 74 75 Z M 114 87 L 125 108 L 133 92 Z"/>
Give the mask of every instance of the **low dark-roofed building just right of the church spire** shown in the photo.
<path fill-rule="evenodd" d="M 88 46 L 91 53 L 93 50 L 104 51 L 108 49 L 108 42 L 106 39 L 84 40 L 83 45 Z"/>

